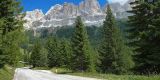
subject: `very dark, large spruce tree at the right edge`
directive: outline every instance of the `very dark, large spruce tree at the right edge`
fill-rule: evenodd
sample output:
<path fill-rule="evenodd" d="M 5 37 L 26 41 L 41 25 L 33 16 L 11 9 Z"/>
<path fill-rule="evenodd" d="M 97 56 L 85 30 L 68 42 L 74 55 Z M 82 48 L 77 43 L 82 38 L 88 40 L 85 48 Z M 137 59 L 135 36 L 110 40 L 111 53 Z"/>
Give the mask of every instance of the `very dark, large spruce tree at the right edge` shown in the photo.
<path fill-rule="evenodd" d="M 136 70 L 142 74 L 160 73 L 159 2 L 136 0 L 129 16 L 129 45 L 134 47 Z"/>

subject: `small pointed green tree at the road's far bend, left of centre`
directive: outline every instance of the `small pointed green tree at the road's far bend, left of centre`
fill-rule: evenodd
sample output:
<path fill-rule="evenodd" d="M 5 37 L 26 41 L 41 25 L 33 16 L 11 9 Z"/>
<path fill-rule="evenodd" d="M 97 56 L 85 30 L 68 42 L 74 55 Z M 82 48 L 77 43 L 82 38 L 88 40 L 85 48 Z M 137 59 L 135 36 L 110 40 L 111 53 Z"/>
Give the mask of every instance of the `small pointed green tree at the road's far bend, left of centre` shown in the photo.
<path fill-rule="evenodd" d="M 42 47 L 42 44 L 40 44 L 39 41 L 37 41 L 33 46 L 30 63 L 33 65 L 33 67 L 47 66 L 47 55 L 47 50 Z"/>

